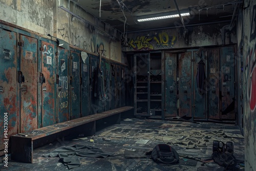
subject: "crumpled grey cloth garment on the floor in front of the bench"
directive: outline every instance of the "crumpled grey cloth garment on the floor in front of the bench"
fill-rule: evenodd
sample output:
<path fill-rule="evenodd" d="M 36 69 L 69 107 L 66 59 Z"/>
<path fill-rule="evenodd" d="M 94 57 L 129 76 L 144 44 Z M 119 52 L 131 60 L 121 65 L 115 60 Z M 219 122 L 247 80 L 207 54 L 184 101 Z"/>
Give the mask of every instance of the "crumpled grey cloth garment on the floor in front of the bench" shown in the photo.
<path fill-rule="evenodd" d="M 103 157 L 112 156 L 112 152 L 103 152 L 102 149 L 88 145 L 76 144 L 73 146 L 62 146 L 54 149 L 49 154 L 43 155 L 44 157 L 59 157 L 59 161 L 69 169 L 79 167 L 80 160 L 78 156 L 82 157 Z"/>

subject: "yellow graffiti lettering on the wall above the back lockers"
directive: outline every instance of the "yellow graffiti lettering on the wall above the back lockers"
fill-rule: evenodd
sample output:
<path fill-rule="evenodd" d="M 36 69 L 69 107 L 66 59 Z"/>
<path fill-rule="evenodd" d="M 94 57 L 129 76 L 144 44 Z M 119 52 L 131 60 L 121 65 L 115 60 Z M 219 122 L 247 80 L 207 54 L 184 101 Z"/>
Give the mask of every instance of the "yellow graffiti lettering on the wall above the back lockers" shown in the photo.
<path fill-rule="evenodd" d="M 122 39 L 122 46 L 131 47 L 135 51 L 154 50 L 160 48 L 174 48 L 176 36 L 169 36 L 166 32 L 156 33 L 154 36 L 137 36 L 135 39 Z"/>

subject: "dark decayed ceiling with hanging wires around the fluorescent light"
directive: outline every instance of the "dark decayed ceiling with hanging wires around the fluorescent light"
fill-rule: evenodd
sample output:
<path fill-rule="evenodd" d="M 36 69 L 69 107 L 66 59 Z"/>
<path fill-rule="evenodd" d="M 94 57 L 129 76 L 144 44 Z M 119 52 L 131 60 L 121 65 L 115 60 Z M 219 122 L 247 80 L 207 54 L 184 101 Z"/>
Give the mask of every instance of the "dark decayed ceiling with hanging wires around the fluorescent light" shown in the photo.
<path fill-rule="evenodd" d="M 120 32 L 159 30 L 234 20 L 241 0 L 74 0 L 87 12 Z M 190 16 L 138 22 L 137 16 L 189 9 Z"/>

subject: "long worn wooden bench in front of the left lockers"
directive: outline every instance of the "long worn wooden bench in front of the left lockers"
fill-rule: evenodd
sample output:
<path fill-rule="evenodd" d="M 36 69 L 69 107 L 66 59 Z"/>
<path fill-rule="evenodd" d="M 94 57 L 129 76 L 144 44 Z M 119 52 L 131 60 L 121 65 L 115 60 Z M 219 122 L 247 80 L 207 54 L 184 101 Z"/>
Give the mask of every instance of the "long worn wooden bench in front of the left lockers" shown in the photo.
<path fill-rule="evenodd" d="M 113 124 L 120 124 L 121 113 L 133 109 L 133 106 L 124 106 L 122 108 L 41 127 L 23 134 L 13 135 L 10 137 L 11 160 L 32 163 L 33 148 L 51 143 L 58 138 L 74 134 L 92 136 L 96 132 L 97 121 L 102 122 L 103 119 L 108 119 Z"/>

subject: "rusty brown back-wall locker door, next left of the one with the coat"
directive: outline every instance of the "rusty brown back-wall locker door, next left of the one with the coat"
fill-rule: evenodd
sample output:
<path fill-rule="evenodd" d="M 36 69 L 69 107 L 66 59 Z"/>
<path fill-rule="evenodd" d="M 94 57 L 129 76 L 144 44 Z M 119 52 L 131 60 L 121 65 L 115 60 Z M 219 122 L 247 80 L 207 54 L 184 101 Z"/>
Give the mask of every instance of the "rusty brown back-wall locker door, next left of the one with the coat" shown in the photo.
<path fill-rule="evenodd" d="M 192 117 L 191 52 L 179 53 L 179 117 Z"/>

